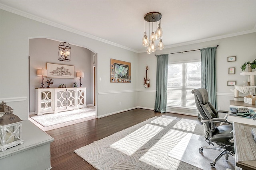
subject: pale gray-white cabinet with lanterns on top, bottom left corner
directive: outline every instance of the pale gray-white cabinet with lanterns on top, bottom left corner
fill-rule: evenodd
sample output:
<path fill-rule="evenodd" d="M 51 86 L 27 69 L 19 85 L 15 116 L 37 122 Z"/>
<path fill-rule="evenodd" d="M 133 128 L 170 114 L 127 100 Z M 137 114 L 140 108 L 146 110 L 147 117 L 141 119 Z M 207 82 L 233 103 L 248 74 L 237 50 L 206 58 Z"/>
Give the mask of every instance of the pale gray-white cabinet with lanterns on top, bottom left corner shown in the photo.
<path fill-rule="evenodd" d="M 22 122 L 24 143 L 0 152 L 0 170 L 50 170 L 50 135 L 29 120 Z"/>

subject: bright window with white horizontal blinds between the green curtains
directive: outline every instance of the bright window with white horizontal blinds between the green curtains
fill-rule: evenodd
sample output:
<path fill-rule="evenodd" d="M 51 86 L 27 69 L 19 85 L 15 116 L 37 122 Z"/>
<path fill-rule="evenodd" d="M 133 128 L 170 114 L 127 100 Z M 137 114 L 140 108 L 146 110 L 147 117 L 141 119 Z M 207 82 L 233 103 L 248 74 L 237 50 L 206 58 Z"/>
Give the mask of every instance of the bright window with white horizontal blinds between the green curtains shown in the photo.
<path fill-rule="evenodd" d="M 192 90 L 201 87 L 201 61 L 168 64 L 167 106 L 196 107 Z"/>

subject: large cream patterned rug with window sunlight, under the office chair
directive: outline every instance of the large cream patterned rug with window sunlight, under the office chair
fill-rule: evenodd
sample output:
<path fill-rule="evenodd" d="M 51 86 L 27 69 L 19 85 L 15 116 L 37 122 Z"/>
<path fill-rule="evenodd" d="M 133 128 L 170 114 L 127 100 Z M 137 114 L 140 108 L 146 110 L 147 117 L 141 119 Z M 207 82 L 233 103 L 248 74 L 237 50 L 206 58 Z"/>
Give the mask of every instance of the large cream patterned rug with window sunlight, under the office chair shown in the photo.
<path fill-rule="evenodd" d="M 180 158 L 168 156 L 188 134 L 203 136 L 203 126 L 197 124 L 197 121 L 162 115 L 114 133 L 74 152 L 98 170 L 210 169 L 208 160 L 203 160 L 204 164 L 200 166 L 194 166 Z M 196 154 L 201 156 L 198 148 L 187 154 L 187 159 L 192 160 L 197 158 Z M 228 167 L 222 165 L 222 162 L 218 162 L 216 166 L 219 170 L 226 168 Z"/>

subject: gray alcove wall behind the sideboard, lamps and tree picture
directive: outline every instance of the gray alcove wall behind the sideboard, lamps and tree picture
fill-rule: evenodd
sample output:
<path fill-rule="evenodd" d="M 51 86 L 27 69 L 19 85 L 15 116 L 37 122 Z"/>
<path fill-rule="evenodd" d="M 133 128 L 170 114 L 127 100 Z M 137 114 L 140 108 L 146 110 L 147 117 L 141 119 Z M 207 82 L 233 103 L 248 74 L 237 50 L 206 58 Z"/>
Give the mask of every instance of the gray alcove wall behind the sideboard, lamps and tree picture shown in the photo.
<path fill-rule="evenodd" d="M 58 46 L 60 42 L 54 41 L 46 38 L 35 38 L 29 39 L 29 52 L 30 56 L 30 69 L 29 69 L 29 112 L 32 113 L 35 111 L 35 88 L 41 87 L 42 77 L 36 75 L 36 70 L 44 68 L 46 69 L 46 63 L 54 64 L 65 64 L 74 66 L 74 78 L 53 78 L 54 84 L 51 88 L 58 88 L 60 84 L 66 84 L 66 87 L 74 87 L 74 82 L 80 83 L 80 78 L 76 78 L 76 72 L 84 72 L 84 78 L 81 79 L 82 87 L 86 87 L 86 104 L 93 104 L 92 100 L 92 56 L 91 51 L 78 47 L 76 45 L 71 46 L 71 58 L 69 62 L 59 61 L 58 60 Z M 43 77 L 44 87 L 47 87 L 45 80 L 46 77 Z M 78 84 L 78 86 L 80 86 Z"/>

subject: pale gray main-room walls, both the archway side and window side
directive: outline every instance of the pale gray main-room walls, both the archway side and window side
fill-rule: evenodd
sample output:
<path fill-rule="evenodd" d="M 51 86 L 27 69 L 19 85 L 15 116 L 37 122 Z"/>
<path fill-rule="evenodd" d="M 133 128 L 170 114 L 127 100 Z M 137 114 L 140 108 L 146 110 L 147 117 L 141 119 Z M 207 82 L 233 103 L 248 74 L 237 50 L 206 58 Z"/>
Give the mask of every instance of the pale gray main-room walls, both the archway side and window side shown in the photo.
<path fill-rule="evenodd" d="M 154 108 L 156 89 L 155 54 L 138 54 L 117 45 L 110 45 L 74 33 L 74 30 L 60 29 L 6 12 L 5 10 L 0 10 L 0 16 L 0 100 L 6 101 L 7 105 L 14 109 L 14 114 L 18 115 L 21 119 L 28 119 L 30 99 L 30 96 L 28 96 L 28 44 L 29 39 L 34 38 L 48 38 L 60 42 L 66 41 L 72 45 L 89 49 L 92 53 L 96 54 L 97 117 L 111 115 L 138 106 L 148 109 Z M 156 53 L 174 53 L 212 47 L 216 44 L 220 45 L 216 54 L 217 106 L 221 107 L 221 109 L 228 109 L 229 100 L 234 99 L 234 94 L 230 91 L 232 86 L 227 86 L 227 81 L 236 80 L 238 85 L 243 85 L 245 78 L 239 74 L 241 72 L 240 65 L 245 61 L 253 61 L 256 58 L 256 33 L 166 48 L 162 51 L 156 51 Z M 92 53 L 90 54 L 91 56 Z M 230 56 L 236 56 L 237 61 L 227 62 L 227 57 Z M 170 55 L 169 61 L 172 59 L 188 60 L 190 57 L 200 57 L 199 51 Z M 110 59 L 131 63 L 131 83 L 110 83 Z M 147 89 L 143 87 L 146 65 L 149 67 L 148 77 L 150 78 L 151 85 Z M 236 74 L 229 75 L 229 67 L 236 67 Z M 101 78 L 101 81 L 99 78 Z M 39 78 L 36 77 L 36 79 L 40 84 Z M 119 105 L 119 102 L 122 104 Z M 185 113 L 185 111 L 189 112 L 190 110 L 181 110 L 179 112 Z"/>

